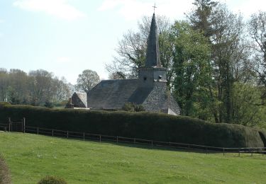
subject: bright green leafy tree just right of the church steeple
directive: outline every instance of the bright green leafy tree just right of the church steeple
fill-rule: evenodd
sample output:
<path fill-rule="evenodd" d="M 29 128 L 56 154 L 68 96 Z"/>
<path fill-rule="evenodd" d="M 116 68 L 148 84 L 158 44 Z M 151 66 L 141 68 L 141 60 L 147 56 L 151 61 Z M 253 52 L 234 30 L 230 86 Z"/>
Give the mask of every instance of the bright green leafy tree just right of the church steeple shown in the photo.
<path fill-rule="evenodd" d="M 200 109 L 206 111 L 211 103 L 207 93 L 211 84 L 210 47 L 204 35 L 185 22 L 174 23 L 172 36 L 174 94 L 182 115 L 192 116 Z"/>

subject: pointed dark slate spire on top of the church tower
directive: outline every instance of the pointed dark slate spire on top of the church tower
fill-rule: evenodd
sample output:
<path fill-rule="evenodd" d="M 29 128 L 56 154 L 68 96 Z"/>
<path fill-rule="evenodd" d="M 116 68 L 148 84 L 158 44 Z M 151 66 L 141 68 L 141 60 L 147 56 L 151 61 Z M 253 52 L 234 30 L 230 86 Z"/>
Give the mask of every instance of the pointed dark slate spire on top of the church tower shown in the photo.
<path fill-rule="evenodd" d="M 145 67 L 161 67 L 155 13 L 153 13 L 152 23 L 150 24 L 150 34 L 148 37 Z"/>

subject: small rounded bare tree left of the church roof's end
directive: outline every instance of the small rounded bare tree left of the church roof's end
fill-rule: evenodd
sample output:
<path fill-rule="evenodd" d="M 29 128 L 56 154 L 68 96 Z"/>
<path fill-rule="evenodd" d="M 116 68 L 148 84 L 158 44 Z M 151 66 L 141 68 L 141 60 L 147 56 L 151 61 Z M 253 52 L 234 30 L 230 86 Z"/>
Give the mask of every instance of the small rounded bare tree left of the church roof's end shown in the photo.
<path fill-rule="evenodd" d="M 82 74 L 79 74 L 75 88 L 77 88 L 77 90 L 79 91 L 88 93 L 89 90 L 91 90 L 96 84 L 99 83 L 99 81 L 100 77 L 96 73 L 96 71 L 86 69 L 82 71 Z"/>

